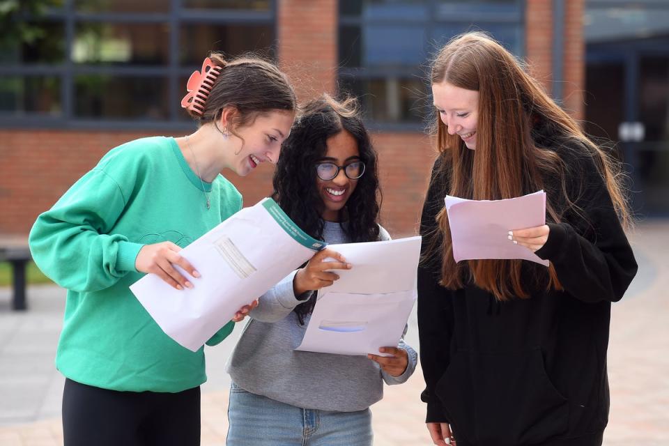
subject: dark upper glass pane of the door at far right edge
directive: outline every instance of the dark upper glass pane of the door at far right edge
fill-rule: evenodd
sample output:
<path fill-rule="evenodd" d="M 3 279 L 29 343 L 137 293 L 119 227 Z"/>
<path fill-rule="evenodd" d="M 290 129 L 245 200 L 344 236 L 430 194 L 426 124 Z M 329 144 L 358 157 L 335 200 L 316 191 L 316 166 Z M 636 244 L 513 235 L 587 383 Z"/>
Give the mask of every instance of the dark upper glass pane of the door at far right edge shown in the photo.
<path fill-rule="evenodd" d="M 639 68 L 639 121 L 646 127 L 644 140 L 669 141 L 669 56 L 642 57 Z"/>

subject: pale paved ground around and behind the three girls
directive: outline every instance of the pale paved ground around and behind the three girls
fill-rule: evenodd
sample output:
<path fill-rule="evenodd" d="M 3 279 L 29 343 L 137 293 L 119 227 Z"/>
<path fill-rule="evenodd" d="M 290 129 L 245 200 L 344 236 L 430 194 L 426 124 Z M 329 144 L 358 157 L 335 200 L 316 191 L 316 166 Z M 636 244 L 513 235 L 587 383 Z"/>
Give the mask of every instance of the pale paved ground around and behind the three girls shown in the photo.
<path fill-rule="evenodd" d="M 643 222 L 630 236 L 640 272 L 613 305 L 608 370 L 611 414 L 606 446 L 669 446 L 669 222 Z M 64 291 L 33 286 L 29 311 L 10 311 L 0 289 L 0 445 L 62 445 L 59 420 L 62 376 L 54 369 Z M 415 312 L 408 342 L 417 348 Z M 202 445 L 224 445 L 229 377 L 223 364 L 239 328 L 207 351 L 203 385 Z M 424 427 L 420 370 L 408 383 L 386 387 L 372 406 L 375 445 L 430 445 Z"/>

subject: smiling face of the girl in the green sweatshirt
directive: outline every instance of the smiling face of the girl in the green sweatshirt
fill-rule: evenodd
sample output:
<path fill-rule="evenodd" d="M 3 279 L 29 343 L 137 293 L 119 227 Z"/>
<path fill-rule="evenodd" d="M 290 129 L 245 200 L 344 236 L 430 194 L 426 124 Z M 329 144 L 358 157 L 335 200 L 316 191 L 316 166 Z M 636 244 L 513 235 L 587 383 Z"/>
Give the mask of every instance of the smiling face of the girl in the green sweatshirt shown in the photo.
<path fill-rule="evenodd" d="M 236 128 L 234 134 L 234 154 L 231 169 L 239 176 L 246 176 L 261 162 L 276 164 L 281 151 L 281 143 L 288 137 L 295 114 L 283 110 L 273 110 L 259 114 L 250 125 Z"/>

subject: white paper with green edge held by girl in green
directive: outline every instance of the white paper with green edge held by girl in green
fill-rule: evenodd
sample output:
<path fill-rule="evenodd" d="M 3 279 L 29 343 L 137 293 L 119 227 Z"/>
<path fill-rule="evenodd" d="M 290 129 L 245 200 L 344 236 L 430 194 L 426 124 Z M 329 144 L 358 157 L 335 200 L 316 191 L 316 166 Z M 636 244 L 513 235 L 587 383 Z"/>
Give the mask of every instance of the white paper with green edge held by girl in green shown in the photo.
<path fill-rule="evenodd" d="M 176 267 L 193 289 L 176 290 L 147 274 L 130 290 L 169 337 L 197 351 L 238 309 L 324 245 L 302 233 L 271 199 L 263 199 L 179 252 L 201 275 L 190 277 Z"/>

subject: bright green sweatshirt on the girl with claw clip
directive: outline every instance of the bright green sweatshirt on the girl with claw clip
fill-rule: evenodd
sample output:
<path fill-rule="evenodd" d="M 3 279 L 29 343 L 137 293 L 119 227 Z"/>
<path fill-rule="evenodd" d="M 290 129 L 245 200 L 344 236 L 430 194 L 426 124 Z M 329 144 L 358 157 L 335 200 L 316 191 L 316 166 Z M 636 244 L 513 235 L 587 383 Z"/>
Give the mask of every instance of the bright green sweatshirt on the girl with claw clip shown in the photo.
<path fill-rule="evenodd" d="M 206 194 L 211 208 L 206 208 Z M 33 259 L 68 289 L 56 367 L 79 383 L 111 390 L 180 392 L 206 381 L 203 348 L 193 353 L 164 334 L 128 289 L 144 245 L 185 247 L 242 206 L 223 176 L 204 183 L 176 141 L 130 141 L 40 215 L 30 233 Z M 207 343 L 232 332 L 227 323 Z"/>

